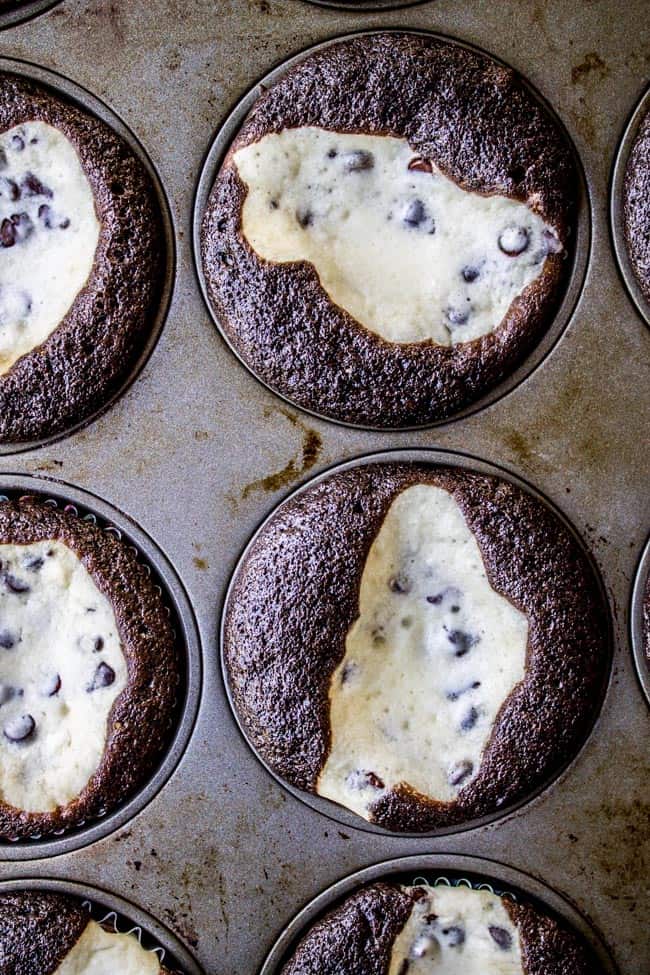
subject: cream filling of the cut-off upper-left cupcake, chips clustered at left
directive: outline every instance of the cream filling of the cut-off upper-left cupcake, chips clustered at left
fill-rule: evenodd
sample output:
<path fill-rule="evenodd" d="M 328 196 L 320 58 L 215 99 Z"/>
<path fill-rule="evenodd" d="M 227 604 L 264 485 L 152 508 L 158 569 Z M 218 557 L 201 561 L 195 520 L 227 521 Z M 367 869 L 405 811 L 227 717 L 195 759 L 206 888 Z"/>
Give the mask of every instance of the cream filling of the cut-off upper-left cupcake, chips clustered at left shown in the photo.
<path fill-rule="evenodd" d="M 0 375 L 41 345 L 86 284 L 100 224 L 76 149 L 26 122 L 0 135 Z"/>

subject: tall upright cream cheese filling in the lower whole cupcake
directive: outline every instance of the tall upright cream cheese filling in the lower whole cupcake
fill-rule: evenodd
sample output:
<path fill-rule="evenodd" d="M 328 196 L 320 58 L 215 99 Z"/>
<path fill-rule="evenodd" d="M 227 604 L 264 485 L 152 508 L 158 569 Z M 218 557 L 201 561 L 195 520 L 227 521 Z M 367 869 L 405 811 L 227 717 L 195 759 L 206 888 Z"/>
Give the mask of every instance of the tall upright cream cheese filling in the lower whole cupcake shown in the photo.
<path fill-rule="evenodd" d="M 527 641 L 526 616 L 492 588 L 452 495 L 401 492 L 368 553 L 332 677 L 318 793 L 366 819 L 400 784 L 454 800 L 524 677 Z"/>

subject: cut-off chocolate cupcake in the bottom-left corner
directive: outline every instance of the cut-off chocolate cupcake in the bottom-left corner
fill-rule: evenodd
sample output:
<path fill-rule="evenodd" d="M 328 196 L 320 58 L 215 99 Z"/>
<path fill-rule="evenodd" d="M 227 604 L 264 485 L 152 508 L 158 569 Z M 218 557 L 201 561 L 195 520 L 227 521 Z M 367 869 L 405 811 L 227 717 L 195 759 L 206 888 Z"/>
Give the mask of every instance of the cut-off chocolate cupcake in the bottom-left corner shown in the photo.
<path fill-rule="evenodd" d="M 66 894 L 0 893 L 0 948 L 7 975 L 169 975 L 135 931 L 93 920 Z"/>

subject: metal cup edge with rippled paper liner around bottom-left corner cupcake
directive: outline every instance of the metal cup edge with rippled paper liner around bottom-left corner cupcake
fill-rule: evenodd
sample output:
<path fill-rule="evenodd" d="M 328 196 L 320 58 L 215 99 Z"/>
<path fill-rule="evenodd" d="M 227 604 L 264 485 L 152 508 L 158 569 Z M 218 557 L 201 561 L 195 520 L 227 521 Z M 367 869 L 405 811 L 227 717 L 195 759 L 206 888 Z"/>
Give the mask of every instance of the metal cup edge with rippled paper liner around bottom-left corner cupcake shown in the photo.
<path fill-rule="evenodd" d="M 94 921 L 109 925 L 116 933 L 133 934 L 142 947 L 154 952 L 161 964 L 171 972 L 178 975 L 202 975 L 189 951 L 171 931 L 142 908 L 130 904 L 122 897 L 67 880 L 39 880 L 34 877 L 29 880 L 0 881 L 0 895 L 19 890 L 46 891 L 77 897 Z"/>

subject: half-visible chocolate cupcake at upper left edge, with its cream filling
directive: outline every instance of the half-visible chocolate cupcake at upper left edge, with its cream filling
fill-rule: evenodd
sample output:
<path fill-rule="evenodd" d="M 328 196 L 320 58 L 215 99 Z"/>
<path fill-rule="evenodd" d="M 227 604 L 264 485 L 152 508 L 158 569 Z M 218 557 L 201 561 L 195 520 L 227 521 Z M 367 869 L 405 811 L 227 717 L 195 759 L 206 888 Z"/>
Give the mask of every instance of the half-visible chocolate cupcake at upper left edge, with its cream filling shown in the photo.
<path fill-rule="evenodd" d="M 0 441 L 106 405 L 143 353 L 164 273 L 141 160 L 98 118 L 0 73 Z"/>

